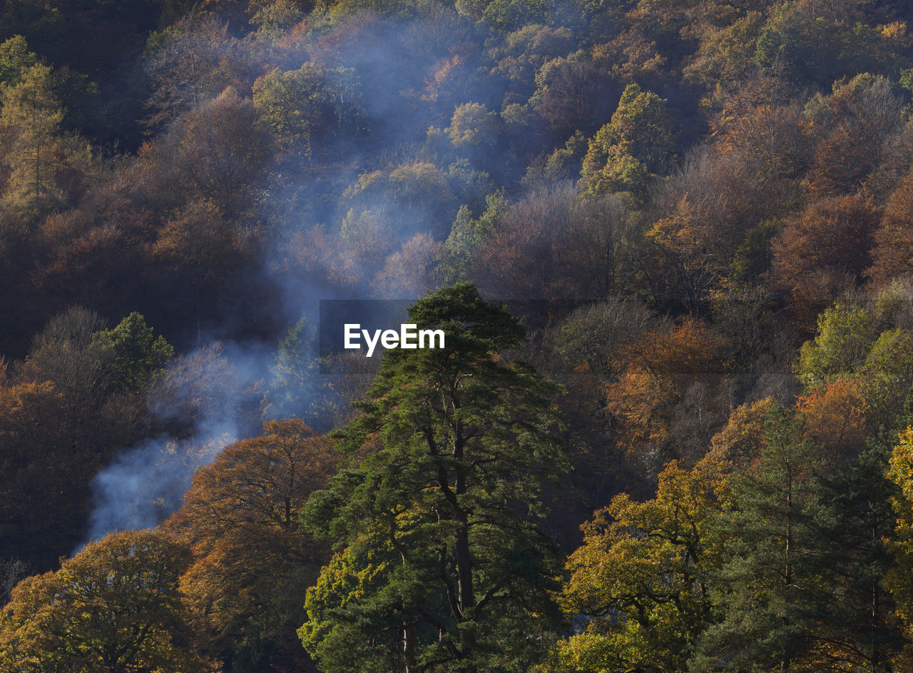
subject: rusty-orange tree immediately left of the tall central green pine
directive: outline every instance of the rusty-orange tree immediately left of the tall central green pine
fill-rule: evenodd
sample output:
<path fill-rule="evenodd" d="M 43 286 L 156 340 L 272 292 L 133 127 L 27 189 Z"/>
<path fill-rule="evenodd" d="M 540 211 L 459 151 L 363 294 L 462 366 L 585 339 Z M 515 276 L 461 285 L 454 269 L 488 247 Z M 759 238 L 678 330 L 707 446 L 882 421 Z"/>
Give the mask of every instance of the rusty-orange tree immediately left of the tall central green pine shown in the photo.
<path fill-rule="evenodd" d="M 181 590 L 209 647 L 232 670 L 299 670 L 300 595 L 329 553 L 299 532 L 311 491 L 335 472 L 339 453 L 302 421 L 270 421 L 261 436 L 226 447 L 200 468 L 184 506 L 165 523 L 194 552 Z M 245 664 L 247 662 L 247 668 Z"/>

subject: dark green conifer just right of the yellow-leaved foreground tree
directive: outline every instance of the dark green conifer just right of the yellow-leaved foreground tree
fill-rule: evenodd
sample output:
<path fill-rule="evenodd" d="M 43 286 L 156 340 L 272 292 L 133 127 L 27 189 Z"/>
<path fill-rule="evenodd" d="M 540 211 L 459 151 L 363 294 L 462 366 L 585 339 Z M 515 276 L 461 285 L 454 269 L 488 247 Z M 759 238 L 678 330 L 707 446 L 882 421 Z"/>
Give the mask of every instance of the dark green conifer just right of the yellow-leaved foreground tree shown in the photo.
<path fill-rule="evenodd" d="M 689 669 L 788 671 L 814 645 L 826 619 L 815 564 L 817 447 L 801 419 L 774 407 L 761 459 L 729 479 L 717 534 L 725 559 L 707 582 L 719 622 L 702 634 Z"/>

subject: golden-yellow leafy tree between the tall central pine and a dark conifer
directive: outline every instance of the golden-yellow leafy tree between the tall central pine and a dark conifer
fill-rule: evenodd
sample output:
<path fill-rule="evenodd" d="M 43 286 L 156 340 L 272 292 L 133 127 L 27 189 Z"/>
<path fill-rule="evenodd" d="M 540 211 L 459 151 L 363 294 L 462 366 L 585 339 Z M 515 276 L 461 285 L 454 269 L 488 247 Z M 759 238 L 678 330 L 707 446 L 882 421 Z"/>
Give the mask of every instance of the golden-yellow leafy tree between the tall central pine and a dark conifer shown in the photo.
<path fill-rule="evenodd" d="M 719 563 L 716 519 L 727 466 L 672 462 L 656 498 L 616 496 L 582 526 L 561 603 L 591 621 L 559 643 L 546 671 L 685 670 L 713 617 L 705 578 Z"/>

